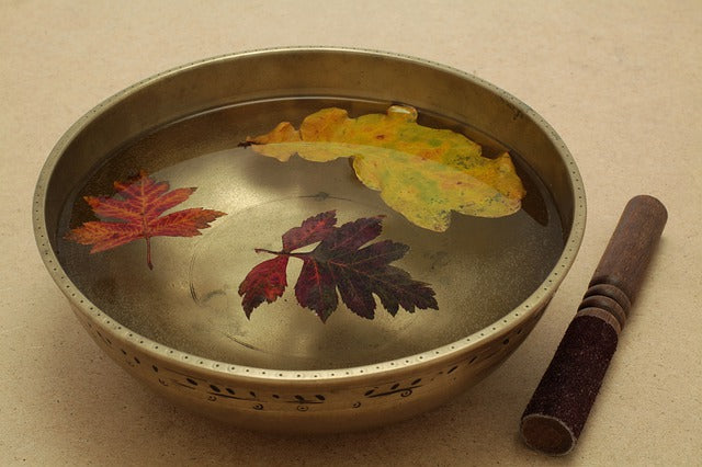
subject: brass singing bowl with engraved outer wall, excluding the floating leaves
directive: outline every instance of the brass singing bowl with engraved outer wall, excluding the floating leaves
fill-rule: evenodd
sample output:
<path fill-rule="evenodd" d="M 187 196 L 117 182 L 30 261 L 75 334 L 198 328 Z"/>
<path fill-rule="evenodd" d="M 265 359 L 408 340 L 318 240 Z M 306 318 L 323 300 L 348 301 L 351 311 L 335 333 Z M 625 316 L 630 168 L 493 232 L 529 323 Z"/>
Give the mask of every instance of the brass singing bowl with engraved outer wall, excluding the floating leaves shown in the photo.
<path fill-rule="evenodd" d="M 547 242 L 541 230 L 529 241 L 514 235 L 509 223 L 521 218 L 454 215 L 443 235 L 421 231 L 388 209 L 376 192 L 354 184 L 346 161 L 281 163 L 257 157 L 229 162 L 235 159 L 226 151 L 250 132 L 299 116 L 293 112 L 296 102 L 310 111 L 319 103 L 346 102 L 352 110 L 364 102 L 403 103 L 497 141 L 552 201 L 551 209 L 530 207 L 528 195 L 522 216 L 528 224 L 557 229 L 550 234 L 555 247 L 548 254 L 539 251 Z M 227 127 L 227 118 L 236 125 Z M 193 205 L 227 216 L 193 239 L 154 239 L 154 271 L 144 266 L 138 242 L 89 254 L 87 247 L 66 240 L 76 217 L 84 220 L 90 214 L 79 207 L 82 196 L 111 194 L 115 163 L 133 159 L 139 169 L 168 175 L 173 189 L 190 186 L 201 173 L 201 159 L 193 155 L 217 151 L 224 151 L 223 164 L 208 179 L 197 179 Z M 168 172 L 172 160 L 180 162 L 179 170 Z M 340 306 L 322 323 L 295 303 L 290 273 L 285 299 L 263 304 L 247 319 L 237 286 L 247 271 L 269 259 L 254 248 L 280 248 L 275 241 L 287 229 L 315 210 L 337 208 L 346 216 L 340 223 L 384 215 L 383 234 L 414 246 L 401 266 L 433 284 L 440 310 L 399 310 L 392 317 L 378 309 L 367 320 Z M 118 92 L 60 138 L 34 197 L 44 263 L 102 351 L 156 392 L 195 412 L 281 432 L 349 431 L 398 421 L 485 377 L 542 316 L 574 262 L 585 217 L 584 186 L 571 155 L 556 132 L 514 96 L 422 59 L 326 47 L 220 56 Z M 126 271 L 111 262 L 121 254 L 134 257 Z"/>

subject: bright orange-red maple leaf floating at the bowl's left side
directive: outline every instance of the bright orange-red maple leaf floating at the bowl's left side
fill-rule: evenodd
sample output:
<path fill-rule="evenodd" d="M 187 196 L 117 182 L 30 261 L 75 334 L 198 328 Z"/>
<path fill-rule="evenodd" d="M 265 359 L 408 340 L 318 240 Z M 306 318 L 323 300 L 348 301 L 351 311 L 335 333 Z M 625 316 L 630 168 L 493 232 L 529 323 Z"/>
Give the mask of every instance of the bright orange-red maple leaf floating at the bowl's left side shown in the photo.
<path fill-rule="evenodd" d="M 90 252 L 98 253 L 143 238 L 146 240 L 146 263 L 151 270 L 152 237 L 199 236 L 200 229 L 210 227 L 210 223 L 226 215 L 218 210 L 193 207 L 161 216 L 188 200 L 196 189 L 169 191 L 168 182 L 157 182 L 145 171 L 131 182 L 114 182 L 114 187 L 117 193 L 111 197 L 83 197 L 97 216 L 113 220 L 83 223 L 71 229 L 66 239 L 92 244 Z"/>

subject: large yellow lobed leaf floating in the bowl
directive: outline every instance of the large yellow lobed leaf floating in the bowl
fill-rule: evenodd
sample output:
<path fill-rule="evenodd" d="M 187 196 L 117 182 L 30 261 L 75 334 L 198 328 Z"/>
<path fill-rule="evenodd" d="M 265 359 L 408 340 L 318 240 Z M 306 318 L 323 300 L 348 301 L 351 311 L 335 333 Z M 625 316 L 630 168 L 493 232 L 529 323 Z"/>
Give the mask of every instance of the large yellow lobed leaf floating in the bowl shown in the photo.
<path fill-rule="evenodd" d="M 247 145 L 282 162 L 295 153 L 315 162 L 350 157 L 364 185 L 412 224 L 434 231 L 449 228 L 452 210 L 480 217 L 519 210 L 525 192 L 509 153 L 485 158 L 465 136 L 416 121 L 409 106 L 358 118 L 330 107 L 307 116 L 299 130 L 283 122 L 247 138 Z"/>

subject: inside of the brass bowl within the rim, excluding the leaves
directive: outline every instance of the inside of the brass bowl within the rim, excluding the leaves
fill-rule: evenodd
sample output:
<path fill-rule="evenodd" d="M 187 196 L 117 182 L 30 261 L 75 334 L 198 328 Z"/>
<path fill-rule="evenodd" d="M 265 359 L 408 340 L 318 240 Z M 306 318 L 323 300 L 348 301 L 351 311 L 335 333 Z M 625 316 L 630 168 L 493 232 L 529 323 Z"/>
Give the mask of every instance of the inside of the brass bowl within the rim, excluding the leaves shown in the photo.
<path fill-rule="evenodd" d="M 388 208 L 359 183 L 347 159 L 280 162 L 238 146 L 324 107 L 359 116 L 398 102 L 417 107 L 422 125 L 480 143 L 487 156 L 509 150 L 528 191 L 523 208 L 502 218 L 454 214 L 451 227 L 435 232 Z M 582 215 L 565 146 L 519 101 L 454 70 L 359 50 L 242 54 L 146 80 L 77 123 L 47 168 L 46 231 L 84 299 L 156 342 L 261 368 L 369 365 L 508 322 L 564 261 Z M 87 196 L 111 196 L 114 182 L 140 171 L 171 190 L 197 189 L 169 212 L 226 215 L 201 236 L 150 239 L 152 270 L 143 239 L 94 254 L 67 239 L 72 228 L 98 220 Z M 261 250 L 280 251 L 286 231 L 332 210 L 339 226 L 383 216 L 374 241 L 409 247 L 393 264 L 428 284 L 438 309 L 392 316 L 376 300 L 371 320 L 340 303 L 322 322 L 299 306 L 295 284 L 304 261 L 290 258 L 285 293 L 248 318 L 239 286 L 257 264 L 278 258 Z"/>

